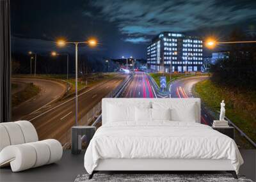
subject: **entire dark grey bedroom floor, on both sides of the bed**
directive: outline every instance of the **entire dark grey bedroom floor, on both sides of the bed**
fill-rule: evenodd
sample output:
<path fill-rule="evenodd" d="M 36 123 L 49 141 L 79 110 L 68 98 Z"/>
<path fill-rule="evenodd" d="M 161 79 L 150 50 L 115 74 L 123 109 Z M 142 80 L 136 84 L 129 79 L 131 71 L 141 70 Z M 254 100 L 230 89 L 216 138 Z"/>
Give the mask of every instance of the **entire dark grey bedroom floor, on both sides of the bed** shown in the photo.
<path fill-rule="evenodd" d="M 256 150 L 241 149 L 241 155 L 244 164 L 239 174 L 256 181 Z M 74 181 L 78 174 L 86 173 L 83 163 L 84 153 L 71 155 L 70 150 L 66 150 L 57 163 L 22 172 L 12 172 L 10 167 L 0 169 L 0 181 Z"/>

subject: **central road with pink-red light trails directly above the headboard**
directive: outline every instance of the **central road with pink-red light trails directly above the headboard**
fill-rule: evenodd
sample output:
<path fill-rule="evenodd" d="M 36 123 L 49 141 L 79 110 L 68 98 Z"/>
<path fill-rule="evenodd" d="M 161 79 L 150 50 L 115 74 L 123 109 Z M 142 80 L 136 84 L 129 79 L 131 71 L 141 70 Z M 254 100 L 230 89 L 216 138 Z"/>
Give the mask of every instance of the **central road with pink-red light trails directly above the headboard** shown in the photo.
<path fill-rule="evenodd" d="M 154 87 L 152 87 L 152 84 L 150 84 L 149 76 L 146 73 L 135 72 L 121 97 L 154 98 L 156 97 L 156 92 Z"/>

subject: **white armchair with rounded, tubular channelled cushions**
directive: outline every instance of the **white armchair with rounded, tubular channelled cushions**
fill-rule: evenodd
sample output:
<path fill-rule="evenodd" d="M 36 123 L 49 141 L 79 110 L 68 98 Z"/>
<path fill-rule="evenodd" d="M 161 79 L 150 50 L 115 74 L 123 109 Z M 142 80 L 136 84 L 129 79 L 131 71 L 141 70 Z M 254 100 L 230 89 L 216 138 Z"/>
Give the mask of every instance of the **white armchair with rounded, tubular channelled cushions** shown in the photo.
<path fill-rule="evenodd" d="M 58 140 L 38 141 L 29 121 L 0 123 L 0 167 L 11 165 L 13 172 L 54 163 L 61 159 Z"/>

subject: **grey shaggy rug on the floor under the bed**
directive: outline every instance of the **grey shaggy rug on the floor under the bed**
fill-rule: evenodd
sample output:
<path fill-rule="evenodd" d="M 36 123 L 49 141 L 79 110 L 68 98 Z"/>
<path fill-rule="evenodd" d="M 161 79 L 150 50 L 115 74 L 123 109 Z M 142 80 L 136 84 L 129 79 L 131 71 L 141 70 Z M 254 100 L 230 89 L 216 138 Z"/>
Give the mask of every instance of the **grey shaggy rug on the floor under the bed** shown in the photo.
<path fill-rule="evenodd" d="M 93 182 L 93 181 L 136 181 L 136 182 L 190 182 L 190 181 L 207 181 L 207 182 L 229 182 L 243 181 L 253 182 L 251 179 L 246 179 L 244 176 L 238 176 L 239 179 L 234 179 L 231 174 L 94 174 L 92 179 L 88 179 L 88 174 L 78 175 L 75 182 Z"/>

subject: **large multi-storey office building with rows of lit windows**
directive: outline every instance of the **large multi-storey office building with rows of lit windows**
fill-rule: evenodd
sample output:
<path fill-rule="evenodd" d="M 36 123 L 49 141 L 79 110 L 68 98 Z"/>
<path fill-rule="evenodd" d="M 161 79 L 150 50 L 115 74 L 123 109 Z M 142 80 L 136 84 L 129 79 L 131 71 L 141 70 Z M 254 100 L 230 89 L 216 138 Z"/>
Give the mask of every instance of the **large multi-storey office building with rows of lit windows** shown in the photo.
<path fill-rule="evenodd" d="M 203 42 L 196 36 L 163 32 L 147 47 L 148 68 L 157 72 L 200 72 L 203 65 Z"/>

